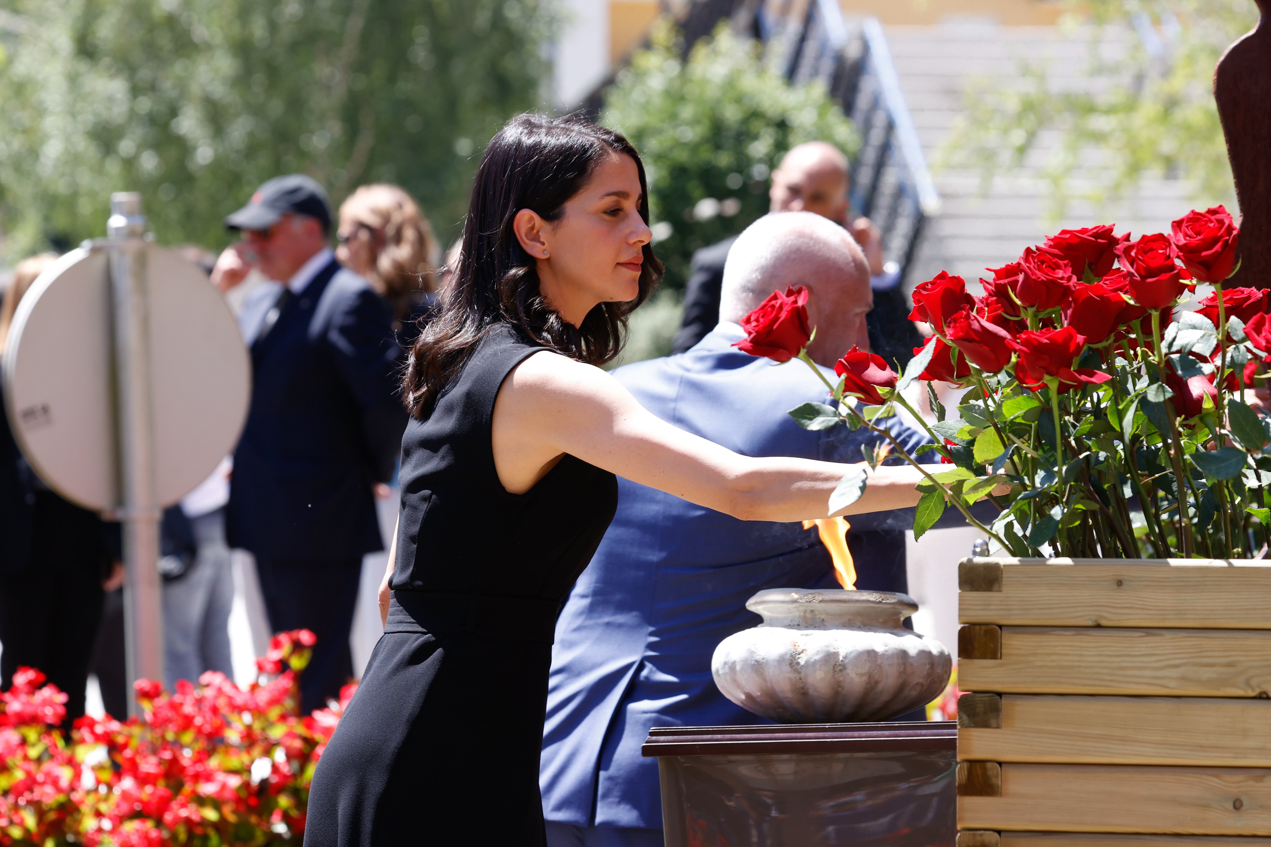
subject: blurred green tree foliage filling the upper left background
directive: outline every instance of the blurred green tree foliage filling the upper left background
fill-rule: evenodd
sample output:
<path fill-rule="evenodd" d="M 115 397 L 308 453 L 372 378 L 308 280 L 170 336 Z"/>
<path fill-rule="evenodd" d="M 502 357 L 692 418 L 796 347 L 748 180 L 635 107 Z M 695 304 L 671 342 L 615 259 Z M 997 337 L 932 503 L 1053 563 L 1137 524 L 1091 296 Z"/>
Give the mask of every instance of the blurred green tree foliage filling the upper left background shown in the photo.
<path fill-rule="evenodd" d="M 222 244 L 264 179 L 412 190 L 449 234 L 474 152 L 539 103 L 544 0 L 11 0 L 0 10 L 0 234 L 104 232 L 136 189 L 160 241 Z"/>

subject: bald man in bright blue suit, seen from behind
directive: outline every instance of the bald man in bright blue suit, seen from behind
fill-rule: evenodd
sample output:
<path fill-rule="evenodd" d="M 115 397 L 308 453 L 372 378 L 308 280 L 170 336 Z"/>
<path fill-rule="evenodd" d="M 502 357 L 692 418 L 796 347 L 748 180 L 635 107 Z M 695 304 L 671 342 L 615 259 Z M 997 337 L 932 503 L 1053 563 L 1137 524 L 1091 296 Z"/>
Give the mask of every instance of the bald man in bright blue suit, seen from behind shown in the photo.
<path fill-rule="evenodd" d="M 826 400 L 815 373 L 733 347 L 746 312 L 798 284 L 811 292 L 813 361 L 831 366 L 853 344 L 868 349 L 872 293 L 860 248 L 824 217 L 783 212 L 732 246 L 713 331 L 686 353 L 618 368 L 615 378 L 653 414 L 740 453 L 862 461 L 862 444 L 877 443 L 868 430 L 807 432 L 785 414 Z M 909 450 L 927 442 L 895 418 L 886 424 Z M 852 518 L 850 535 L 866 538 L 853 544 L 859 588 L 905 590 L 900 531 L 911 523 L 909 509 Z M 871 536 L 899 544 L 901 555 L 871 554 Z M 719 693 L 710 655 L 759 622 L 746 599 L 782 587 L 835 587 L 816 530 L 737 521 L 619 480 L 618 514 L 557 624 L 540 768 L 549 847 L 662 844 L 657 764 L 641 757 L 641 744 L 652 726 L 760 721 Z"/>

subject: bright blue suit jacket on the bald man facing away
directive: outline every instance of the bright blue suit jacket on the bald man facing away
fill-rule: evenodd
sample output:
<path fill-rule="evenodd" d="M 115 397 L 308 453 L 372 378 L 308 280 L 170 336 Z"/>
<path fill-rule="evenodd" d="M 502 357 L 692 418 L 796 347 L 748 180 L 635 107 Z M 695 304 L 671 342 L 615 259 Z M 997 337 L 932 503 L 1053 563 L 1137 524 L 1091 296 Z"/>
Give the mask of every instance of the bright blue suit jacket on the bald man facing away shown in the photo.
<path fill-rule="evenodd" d="M 802 362 L 774 366 L 731 347 L 741 338 L 721 324 L 685 353 L 614 376 L 658 418 L 738 453 L 860 461 L 877 437 L 799 428 L 787 410 L 826 400 L 825 385 Z M 928 441 L 888 425 L 909 448 Z M 913 510 L 849 522 L 902 530 Z M 869 561 L 855 564 L 864 577 Z M 641 757 L 649 728 L 761 723 L 716 688 L 716 645 L 759 624 L 745 607 L 755 592 L 830 585 L 816 530 L 738 521 L 619 479 L 618 514 L 557 622 L 540 766 L 547 819 L 661 827 L 657 764 Z"/>

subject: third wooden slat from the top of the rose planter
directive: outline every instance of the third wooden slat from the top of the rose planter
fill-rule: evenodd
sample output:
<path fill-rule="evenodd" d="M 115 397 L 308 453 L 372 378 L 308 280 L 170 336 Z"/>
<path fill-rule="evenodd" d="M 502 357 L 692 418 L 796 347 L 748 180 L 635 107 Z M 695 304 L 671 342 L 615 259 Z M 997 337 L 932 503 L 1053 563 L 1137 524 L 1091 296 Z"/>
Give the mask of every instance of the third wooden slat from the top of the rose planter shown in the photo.
<path fill-rule="evenodd" d="M 958 721 L 961 761 L 1271 768 L 1271 700 L 963 695 Z"/>

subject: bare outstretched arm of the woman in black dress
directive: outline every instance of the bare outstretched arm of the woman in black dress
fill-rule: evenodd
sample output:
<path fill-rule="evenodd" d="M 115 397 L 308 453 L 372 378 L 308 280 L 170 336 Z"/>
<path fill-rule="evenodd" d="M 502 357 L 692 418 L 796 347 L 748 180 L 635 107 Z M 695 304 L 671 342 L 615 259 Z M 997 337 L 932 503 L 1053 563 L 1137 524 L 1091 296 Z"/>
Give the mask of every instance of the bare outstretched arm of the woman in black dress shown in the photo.
<path fill-rule="evenodd" d="M 755 414 L 764 397 L 755 397 Z M 494 403 L 494 465 L 512 493 L 527 491 L 569 453 L 619 476 L 745 521 L 826 517 L 845 465 L 752 458 L 677 429 L 641 406 L 600 368 L 535 353 L 503 382 Z M 838 514 L 918 503 L 920 474 L 866 467 L 866 493 Z"/>

